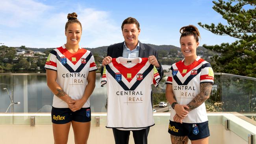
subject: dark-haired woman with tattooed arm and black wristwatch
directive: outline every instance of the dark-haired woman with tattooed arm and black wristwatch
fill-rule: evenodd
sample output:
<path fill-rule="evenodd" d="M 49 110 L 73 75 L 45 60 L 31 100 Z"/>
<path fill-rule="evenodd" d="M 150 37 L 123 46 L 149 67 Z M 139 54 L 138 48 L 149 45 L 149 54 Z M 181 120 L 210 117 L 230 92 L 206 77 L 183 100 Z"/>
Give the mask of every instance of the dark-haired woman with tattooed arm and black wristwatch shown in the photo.
<path fill-rule="evenodd" d="M 180 29 L 184 59 L 171 66 L 165 96 L 171 103 L 168 132 L 172 144 L 208 144 L 210 131 L 204 102 L 214 75 L 210 63 L 197 56 L 200 33 L 193 25 Z"/>

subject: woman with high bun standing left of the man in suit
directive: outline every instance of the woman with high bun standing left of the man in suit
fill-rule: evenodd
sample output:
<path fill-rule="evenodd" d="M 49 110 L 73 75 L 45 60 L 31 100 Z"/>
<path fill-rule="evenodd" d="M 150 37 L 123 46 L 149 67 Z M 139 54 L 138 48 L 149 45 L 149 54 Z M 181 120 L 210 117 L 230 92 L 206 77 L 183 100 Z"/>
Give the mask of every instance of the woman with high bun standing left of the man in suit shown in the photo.
<path fill-rule="evenodd" d="M 82 24 L 69 13 L 66 44 L 52 50 L 46 60 L 47 85 L 54 93 L 52 128 L 55 144 L 67 144 L 70 125 L 76 144 L 86 144 L 91 126 L 89 96 L 95 88 L 96 65 L 89 50 L 79 46 Z"/>

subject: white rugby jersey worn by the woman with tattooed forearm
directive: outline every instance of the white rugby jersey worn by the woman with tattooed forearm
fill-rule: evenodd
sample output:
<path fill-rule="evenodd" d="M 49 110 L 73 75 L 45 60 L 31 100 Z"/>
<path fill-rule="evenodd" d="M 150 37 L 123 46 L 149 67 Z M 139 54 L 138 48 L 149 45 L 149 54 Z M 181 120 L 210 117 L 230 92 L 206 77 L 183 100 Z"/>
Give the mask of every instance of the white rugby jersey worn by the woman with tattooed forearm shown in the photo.
<path fill-rule="evenodd" d="M 210 63 L 197 57 L 195 61 L 188 66 L 184 65 L 184 59 L 171 66 L 169 77 L 166 84 L 173 85 L 173 94 L 177 102 L 181 105 L 187 105 L 200 93 L 200 83 L 212 83 L 214 80 L 213 70 Z M 171 108 L 171 121 L 173 120 L 175 110 Z M 208 121 L 205 104 L 189 111 L 186 118 L 182 120 L 185 123 L 201 123 Z"/>

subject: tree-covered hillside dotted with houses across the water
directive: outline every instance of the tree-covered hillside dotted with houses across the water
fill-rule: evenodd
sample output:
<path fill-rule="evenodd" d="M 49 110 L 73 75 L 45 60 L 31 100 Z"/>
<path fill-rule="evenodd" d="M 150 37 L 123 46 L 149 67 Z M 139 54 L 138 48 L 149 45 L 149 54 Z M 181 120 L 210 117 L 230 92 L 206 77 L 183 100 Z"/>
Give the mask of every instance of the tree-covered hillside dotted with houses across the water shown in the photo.
<path fill-rule="evenodd" d="M 158 50 L 158 61 L 162 65 L 172 65 L 183 59 L 183 54 L 179 47 L 173 45 L 154 45 L 148 44 Z M 95 63 L 98 68 L 96 72 L 100 72 L 102 59 L 107 55 L 108 46 L 98 48 L 85 48 L 92 52 Z M 45 61 L 54 48 L 26 48 L 0 46 L 0 73 L 45 73 Z M 213 55 L 218 55 L 215 52 L 207 50 L 199 46 L 197 54 L 211 61 Z M 168 72 L 169 70 L 165 70 Z"/>

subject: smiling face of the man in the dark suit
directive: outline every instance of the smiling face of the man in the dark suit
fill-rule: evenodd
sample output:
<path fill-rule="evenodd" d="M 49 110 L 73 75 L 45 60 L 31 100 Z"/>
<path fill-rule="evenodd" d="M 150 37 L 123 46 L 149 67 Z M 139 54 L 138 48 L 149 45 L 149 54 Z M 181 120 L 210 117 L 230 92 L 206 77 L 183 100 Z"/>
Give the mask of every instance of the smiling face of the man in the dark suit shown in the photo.
<path fill-rule="evenodd" d="M 137 46 L 140 31 L 136 24 L 124 24 L 122 35 L 124 36 L 126 46 L 130 48 L 130 50 Z"/>

